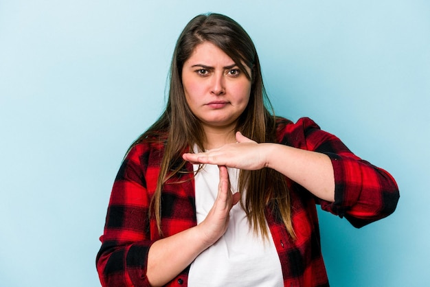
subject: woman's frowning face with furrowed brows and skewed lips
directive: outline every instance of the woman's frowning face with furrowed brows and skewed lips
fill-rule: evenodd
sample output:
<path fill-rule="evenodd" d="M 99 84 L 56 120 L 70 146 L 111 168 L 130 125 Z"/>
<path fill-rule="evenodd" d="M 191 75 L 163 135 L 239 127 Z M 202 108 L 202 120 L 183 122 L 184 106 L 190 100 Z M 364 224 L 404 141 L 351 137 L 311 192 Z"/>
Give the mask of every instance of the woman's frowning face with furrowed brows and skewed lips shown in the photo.
<path fill-rule="evenodd" d="M 251 81 L 244 71 L 210 42 L 197 45 L 185 61 L 182 84 L 188 106 L 205 129 L 233 129 L 251 92 Z"/>

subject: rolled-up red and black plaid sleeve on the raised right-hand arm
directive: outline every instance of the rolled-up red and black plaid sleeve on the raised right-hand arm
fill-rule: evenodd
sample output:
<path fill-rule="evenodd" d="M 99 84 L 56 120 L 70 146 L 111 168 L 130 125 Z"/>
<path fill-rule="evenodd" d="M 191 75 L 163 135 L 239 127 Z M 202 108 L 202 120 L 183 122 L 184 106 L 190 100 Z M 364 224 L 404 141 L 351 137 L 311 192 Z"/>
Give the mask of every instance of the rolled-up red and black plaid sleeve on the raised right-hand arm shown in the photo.
<path fill-rule="evenodd" d="M 398 186 L 387 171 L 360 159 L 342 141 L 321 130 L 312 119 L 286 125 L 291 146 L 330 157 L 335 175 L 335 202 L 316 198 L 321 208 L 347 218 L 354 227 L 385 218 L 396 209 Z"/>

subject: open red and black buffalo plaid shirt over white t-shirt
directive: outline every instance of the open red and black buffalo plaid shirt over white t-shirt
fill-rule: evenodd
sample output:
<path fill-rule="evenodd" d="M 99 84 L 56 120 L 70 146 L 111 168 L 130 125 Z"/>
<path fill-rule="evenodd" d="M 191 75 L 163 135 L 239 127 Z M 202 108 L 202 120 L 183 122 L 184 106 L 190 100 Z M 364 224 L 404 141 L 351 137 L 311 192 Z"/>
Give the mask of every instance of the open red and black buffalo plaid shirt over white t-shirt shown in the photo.
<path fill-rule="evenodd" d="M 278 141 L 327 154 L 332 160 L 334 203 L 315 198 L 304 187 L 291 183 L 295 240 L 288 236 L 276 212 L 266 211 L 280 257 L 284 286 L 328 286 L 315 204 L 332 214 L 344 216 L 354 227 L 362 227 L 396 209 L 398 187 L 385 170 L 359 159 L 337 137 L 321 130 L 311 119 L 302 118 L 296 124 L 280 119 Z M 97 256 L 102 286 L 150 286 L 146 278 L 148 250 L 160 237 L 155 220 L 148 219 L 148 207 L 155 192 L 163 148 L 161 143 L 139 143 L 128 153 L 117 174 Z M 186 168 L 192 171 L 190 163 Z M 164 237 L 196 225 L 192 173 L 182 176 L 181 183 L 163 186 L 161 229 Z M 170 181 L 178 182 L 178 179 Z M 185 268 L 167 286 L 187 286 L 188 270 Z"/>

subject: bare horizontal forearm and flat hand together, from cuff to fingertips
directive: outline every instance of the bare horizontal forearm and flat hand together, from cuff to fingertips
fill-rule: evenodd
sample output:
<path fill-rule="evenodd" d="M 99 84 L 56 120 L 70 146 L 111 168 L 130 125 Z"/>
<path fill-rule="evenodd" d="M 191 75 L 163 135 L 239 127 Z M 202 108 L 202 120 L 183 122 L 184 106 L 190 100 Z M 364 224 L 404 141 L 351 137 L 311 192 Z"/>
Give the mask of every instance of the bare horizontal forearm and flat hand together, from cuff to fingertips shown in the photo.
<path fill-rule="evenodd" d="M 256 143 L 239 132 L 236 141 L 207 152 L 186 153 L 182 157 L 191 163 L 225 165 L 240 170 L 272 168 L 315 196 L 335 201 L 335 175 L 326 154 L 279 143 Z"/>

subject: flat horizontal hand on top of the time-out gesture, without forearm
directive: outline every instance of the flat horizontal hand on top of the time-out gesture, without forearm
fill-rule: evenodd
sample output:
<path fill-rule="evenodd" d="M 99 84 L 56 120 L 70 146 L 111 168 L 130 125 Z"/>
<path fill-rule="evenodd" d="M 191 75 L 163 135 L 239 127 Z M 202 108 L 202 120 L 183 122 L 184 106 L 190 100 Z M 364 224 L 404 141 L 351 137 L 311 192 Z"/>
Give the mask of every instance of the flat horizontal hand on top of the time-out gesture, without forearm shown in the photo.
<path fill-rule="evenodd" d="M 240 170 L 260 170 L 267 167 L 267 145 L 256 143 L 240 132 L 236 133 L 237 143 L 229 143 L 220 148 L 199 153 L 185 153 L 182 158 L 193 164 L 225 165 Z"/>

